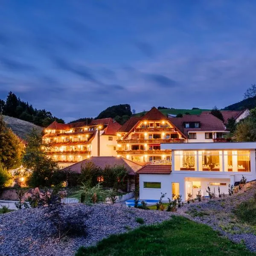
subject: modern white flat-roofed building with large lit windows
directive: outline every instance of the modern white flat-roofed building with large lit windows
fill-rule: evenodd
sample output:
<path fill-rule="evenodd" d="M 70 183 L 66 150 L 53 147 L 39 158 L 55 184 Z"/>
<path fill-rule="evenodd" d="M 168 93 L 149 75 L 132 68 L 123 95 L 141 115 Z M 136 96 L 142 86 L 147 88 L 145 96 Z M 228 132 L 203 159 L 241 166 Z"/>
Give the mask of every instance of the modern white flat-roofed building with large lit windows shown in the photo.
<path fill-rule="evenodd" d="M 162 149 L 172 149 L 172 165 L 146 165 L 139 171 L 140 199 L 159 199 L 167 193 L 193 198 L 201 190 L 208 196 L 209 186 L 215 195 L 218 187 L 228 194 L 228 186 L 256 179 L 255 142 L 248 143 L 172 143 L 161 144 Z"/>

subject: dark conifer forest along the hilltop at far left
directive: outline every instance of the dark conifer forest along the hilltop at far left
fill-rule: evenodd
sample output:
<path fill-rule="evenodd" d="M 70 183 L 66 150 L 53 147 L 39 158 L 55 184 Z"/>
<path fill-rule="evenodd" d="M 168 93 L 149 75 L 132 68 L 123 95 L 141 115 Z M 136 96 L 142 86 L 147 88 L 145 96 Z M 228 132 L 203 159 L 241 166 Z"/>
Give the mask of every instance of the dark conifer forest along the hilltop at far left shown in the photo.
<path fill-rule="evenodd" d="M 63 119 L 52 116 L 52 113 L 45 109 L 38 110 L 28 102 L 23 102 L 20 98 L 9 92 L 6 101 L 0 99 L 0 113 L 6 116 L 16 117 L 35 125 L 47 127 L 54 120 L 64 123 Z"/>

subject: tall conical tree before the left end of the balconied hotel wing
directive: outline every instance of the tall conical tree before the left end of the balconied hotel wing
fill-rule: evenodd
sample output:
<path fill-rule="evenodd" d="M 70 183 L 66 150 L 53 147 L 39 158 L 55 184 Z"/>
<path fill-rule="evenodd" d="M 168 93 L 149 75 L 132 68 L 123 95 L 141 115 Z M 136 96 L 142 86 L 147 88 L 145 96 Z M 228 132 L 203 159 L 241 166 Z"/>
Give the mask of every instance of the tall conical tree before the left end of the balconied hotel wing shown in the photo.
<path fill-rule="evenodd" d="M 33 130 L 23 157 L 23 166 L 32 171 L 28 184 L 33 187 L 57 185 L 66 179 L 66 173 L 59 171 L 57 163 L 47 157 L 42 146 L 41 136 Z"/>

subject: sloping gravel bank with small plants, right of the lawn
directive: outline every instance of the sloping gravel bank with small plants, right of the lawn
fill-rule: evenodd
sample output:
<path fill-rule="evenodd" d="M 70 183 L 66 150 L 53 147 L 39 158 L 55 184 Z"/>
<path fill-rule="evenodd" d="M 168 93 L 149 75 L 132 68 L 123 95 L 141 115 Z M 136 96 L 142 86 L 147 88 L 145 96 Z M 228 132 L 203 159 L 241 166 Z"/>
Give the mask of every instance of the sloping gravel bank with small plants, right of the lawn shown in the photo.
<path fill-rule="evenodd" d="M 246 247 L 256 252 L 256 227 L 241 223 L 233 209 L 256 193 L 256 181 L 246 183 L 241 190 L 225 197 L 204 199 L 201 202 L 185 204 L 175 215 L 183 215 L 193 221 L 207 224 L 235 242 L 244 241 Z"/>

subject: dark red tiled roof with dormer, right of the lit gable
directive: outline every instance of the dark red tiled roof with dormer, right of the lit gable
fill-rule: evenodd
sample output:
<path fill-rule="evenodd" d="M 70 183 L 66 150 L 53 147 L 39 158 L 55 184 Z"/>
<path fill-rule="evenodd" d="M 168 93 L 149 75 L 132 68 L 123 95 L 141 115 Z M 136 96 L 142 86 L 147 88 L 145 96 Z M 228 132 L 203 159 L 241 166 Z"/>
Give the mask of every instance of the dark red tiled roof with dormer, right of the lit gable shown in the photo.
<path fill-rule="evenodd" d="M 189 131 L 226 131 L 224 123 L 211 114 L 183 115 L 169 120 L 186 136 Z M 200 122 L 200 128 L 184 128 L 184 122 Z"/>

